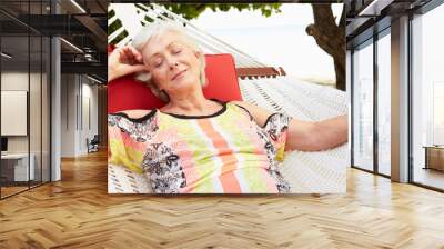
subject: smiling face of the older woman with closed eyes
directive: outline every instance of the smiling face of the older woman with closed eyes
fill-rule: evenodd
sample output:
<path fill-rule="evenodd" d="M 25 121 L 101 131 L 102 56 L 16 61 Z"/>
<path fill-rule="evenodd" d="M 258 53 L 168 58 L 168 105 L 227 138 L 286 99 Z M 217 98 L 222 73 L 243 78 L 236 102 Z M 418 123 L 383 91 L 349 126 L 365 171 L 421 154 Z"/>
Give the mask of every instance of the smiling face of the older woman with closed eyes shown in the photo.
<path fill-rule="evenodd" d="M 167 31 L 149 40 L 142 50 L 143 61 L 152 80 L 168 93 L 200 87 L 199 53 L 194 52 L 173 31 Z"/>

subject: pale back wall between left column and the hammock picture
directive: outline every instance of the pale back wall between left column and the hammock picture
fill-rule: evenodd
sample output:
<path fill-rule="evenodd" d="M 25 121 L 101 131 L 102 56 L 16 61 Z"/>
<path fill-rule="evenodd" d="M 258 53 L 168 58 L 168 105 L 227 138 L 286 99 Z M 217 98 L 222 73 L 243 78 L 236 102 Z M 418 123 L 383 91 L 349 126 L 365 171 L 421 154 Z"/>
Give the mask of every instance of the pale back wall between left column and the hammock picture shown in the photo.
<path fill-rule="evenodd" d="M 87 138 L 98 133 L 98 87 L 92 83 L 84 76 L 62 74 L 62 157 L 88 153 Z"/>

